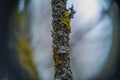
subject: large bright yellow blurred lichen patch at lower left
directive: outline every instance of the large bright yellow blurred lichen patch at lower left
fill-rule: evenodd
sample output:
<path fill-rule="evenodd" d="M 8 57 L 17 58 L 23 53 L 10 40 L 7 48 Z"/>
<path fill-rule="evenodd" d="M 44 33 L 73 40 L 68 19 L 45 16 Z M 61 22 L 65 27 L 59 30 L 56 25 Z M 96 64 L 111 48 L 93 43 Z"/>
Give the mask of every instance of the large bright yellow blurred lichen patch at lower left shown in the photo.
<path fill-rule="evenodd" d="M 32 76 L 33 80 L 36 80 L 37 72 L 33 62 L 32 50 L 26 38 L 23 37 L 22 35 L 19 35 L 18 37 L 17 50 L 19 52 L 19 58 L 20 58 L 22 67 L 26 71 L 28 71 L 30 76 Z"/>

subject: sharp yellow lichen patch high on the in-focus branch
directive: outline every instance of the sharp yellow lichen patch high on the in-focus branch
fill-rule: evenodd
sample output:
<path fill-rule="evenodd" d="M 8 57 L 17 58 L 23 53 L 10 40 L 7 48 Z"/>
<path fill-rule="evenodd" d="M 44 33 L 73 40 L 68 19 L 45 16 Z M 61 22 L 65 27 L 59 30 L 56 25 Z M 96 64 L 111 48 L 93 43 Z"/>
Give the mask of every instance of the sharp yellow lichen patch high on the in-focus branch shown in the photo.
<path fill-rule="evenodd" d="M 70 14 L 68 12 L 66 12 L 62 16 L 62 24 L 64 24 L 67 27 L 67 30 L 69 32 L 71 31 L 71 27 L 70 27 Z"/>

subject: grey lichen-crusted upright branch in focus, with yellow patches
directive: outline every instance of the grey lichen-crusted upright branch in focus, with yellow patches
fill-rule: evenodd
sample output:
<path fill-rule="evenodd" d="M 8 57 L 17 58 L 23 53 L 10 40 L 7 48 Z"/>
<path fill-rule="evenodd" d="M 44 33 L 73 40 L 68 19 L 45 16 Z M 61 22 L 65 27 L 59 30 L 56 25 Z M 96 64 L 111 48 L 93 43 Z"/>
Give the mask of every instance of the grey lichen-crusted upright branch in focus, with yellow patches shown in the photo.
<path fill-rule="evenodd" d="M 51 0 L 54 80 L 73 80 L 70 68 L 69 34 L 71 32 L 70 19 L 75 11 L 73 6 L 70 8 L 71 12 L 66 9 L 66 1 Z"/>

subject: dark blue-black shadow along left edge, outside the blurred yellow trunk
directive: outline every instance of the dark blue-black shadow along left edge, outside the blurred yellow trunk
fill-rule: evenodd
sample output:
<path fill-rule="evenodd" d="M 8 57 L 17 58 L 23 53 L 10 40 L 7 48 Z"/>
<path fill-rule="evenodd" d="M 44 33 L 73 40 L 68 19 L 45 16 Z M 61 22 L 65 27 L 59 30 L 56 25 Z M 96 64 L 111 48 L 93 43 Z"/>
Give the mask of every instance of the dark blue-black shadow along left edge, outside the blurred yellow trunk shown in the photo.
<path fill-rule="evenodd" d="M 0 0 L 0 80 L 30 80 L 22 70 L 15 50 L 10 49 L 9 20 L 18 0 Z"/>

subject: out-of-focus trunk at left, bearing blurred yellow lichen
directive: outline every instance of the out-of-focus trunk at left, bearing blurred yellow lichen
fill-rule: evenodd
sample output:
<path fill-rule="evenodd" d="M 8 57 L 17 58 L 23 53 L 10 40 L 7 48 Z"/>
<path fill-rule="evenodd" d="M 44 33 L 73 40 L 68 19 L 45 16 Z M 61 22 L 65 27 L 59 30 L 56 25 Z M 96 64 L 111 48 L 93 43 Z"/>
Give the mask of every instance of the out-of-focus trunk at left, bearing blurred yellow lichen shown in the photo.
<path fill-rule="evenodd" d="M 11 49 L 15 50 L 24 80 L 39 80 L 33 59 L 33 49 L 30 44 L 30 20 L 28 20 L 30 14 L 27 11 L 28 5 L 23 5 L 25 5 L 23 10 L 19 10 L 19 5 L 17 5 L 11 15 L 10 24 L 13 28 L 10 37 Z"/>

